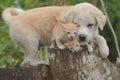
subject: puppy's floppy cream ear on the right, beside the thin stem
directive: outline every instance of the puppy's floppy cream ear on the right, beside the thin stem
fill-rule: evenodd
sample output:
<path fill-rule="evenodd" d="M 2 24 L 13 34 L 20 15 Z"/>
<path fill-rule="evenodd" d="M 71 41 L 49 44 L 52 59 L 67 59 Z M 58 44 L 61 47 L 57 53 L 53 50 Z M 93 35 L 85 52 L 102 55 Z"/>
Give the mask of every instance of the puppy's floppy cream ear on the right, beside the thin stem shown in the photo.
<path fill-rule="evenodd" d="M 98 12 L 95 14 L 95 18 L 98 24 L 98 27 L 103 30 L 105 23 L 106 23 L 106 17 L 102 12 Z"/>

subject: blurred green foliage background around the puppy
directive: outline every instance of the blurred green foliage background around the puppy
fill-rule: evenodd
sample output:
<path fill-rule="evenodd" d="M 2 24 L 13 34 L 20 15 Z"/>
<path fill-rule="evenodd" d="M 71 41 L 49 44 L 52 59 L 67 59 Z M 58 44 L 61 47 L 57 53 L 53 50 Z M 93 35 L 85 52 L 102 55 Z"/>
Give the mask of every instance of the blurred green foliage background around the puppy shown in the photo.
<path fill-rule="evenodd" d="M 110 21 L 116 32 L 118 43 L 120 46 L 120 0 L 104 0 L 105 7 L 107 9 Z M 75 5 L 80 2 L 90 2 L 96 5 L 102 10 L 101 3 L 99 0 L 0 0 L 0 15 L 2 11 L 7 7 L 17 7 L 24 10 L 41 7 L 41 6 L 52 6 L 52 5 Z M 117 51 L 114 43 L 114 38 L 108 27 L 105 25 L 104 31 L 100 31 L 100 34 L 105 37 L 110 48 L 109 59 L 111 62 L 116 61 Z M 44 50 L 41 51 L 44 53 Z M 40 55 L 40 59 L 44 55 Z M 23 60 L 23 51 L 16 47 L 9 37 L 9 28 L 3 22 L 0 16 L 0 67 L 20 67 L 21 61 Z"/>

